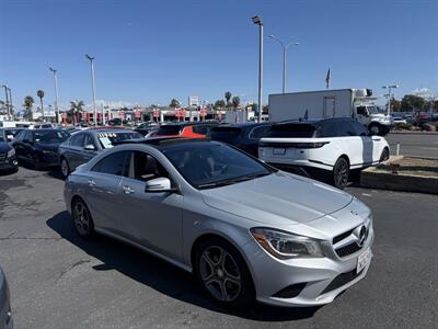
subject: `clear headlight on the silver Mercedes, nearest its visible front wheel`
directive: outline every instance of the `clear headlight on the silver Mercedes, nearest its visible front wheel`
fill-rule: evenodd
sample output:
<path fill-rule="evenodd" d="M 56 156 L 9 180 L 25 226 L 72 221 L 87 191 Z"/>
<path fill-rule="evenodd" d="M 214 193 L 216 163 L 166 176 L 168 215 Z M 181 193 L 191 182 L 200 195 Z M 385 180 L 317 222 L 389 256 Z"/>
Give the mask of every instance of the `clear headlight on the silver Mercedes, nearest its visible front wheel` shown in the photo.
<path fill-rule="evenodd" d="M 318 240 L 269 228 L 252 228 L 254 239 L 279 259 L 323 257 Z"/>

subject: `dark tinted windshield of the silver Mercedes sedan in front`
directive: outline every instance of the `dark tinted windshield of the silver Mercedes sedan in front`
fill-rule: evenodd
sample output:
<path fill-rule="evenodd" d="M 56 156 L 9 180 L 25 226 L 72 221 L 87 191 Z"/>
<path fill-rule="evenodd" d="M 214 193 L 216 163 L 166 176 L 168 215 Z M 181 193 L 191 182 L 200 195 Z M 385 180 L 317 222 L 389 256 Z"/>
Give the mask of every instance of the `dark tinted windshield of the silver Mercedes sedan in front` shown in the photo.
<path fill-rule="evenodd" d="M 164 156 L 195 189 L 235 184 L 275 171 L 223 144 L 191 141 L 164 146 Z"/>

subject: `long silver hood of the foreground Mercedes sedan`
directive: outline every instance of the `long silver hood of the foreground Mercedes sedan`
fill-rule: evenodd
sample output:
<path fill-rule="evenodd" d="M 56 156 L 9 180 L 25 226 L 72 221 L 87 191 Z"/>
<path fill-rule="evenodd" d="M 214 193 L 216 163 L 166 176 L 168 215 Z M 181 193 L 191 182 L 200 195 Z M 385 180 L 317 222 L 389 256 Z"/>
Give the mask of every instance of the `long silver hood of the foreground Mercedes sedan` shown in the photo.
<path fill-rule="evenodd" d="M 268 225 L 309 223 L 345 207 L 353 200 L 341 190 L 281 171 L 201 190 L 201 194 L 210 207 Z"/>

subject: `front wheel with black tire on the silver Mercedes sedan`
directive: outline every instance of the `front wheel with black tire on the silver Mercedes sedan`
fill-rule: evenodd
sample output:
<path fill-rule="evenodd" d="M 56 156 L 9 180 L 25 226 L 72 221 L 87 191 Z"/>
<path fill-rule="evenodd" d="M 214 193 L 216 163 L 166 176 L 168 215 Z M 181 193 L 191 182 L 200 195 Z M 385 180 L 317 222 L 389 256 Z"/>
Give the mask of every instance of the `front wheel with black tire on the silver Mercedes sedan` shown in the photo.
<path fill-rule="evenodd" d="M 254 302 L 254 285 L 244 259 L 221 238 L 212 237 L 198 246 L 194 272 L 204 291 L 226 307 L 242 308 Z"/>

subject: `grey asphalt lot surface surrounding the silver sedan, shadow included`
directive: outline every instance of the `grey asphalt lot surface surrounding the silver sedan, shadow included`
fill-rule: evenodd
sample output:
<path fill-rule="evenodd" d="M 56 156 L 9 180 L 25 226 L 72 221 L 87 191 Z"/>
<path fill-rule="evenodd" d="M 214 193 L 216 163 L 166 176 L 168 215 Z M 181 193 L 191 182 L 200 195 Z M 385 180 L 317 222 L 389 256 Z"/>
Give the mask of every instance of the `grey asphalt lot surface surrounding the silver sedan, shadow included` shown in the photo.
<path fill-rule="evenodd" d="M 0 177 L 0 264 L 16 328 L 436 328 L 438 196 L 348 188 L 374 214 L 368 276 L 321 308 L 233 313 L 191 274 L 107 238 L 77 236 L 55 171 Z"/>

